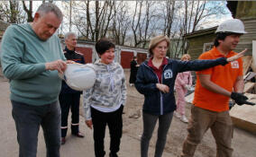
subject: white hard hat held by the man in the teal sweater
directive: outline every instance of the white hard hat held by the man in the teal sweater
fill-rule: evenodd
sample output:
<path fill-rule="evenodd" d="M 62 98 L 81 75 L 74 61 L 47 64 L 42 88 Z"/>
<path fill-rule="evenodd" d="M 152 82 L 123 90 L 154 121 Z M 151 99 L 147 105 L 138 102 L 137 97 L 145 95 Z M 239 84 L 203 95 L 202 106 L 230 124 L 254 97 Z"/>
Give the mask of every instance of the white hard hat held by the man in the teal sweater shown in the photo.
<path fill-rule="evenodd" d="M 83 91 L 91 88 L 96 82 L 96 72 L 92 65 L 69 64 L 64 74 L 59 77 L 65 80 L 73 90 Z"/>

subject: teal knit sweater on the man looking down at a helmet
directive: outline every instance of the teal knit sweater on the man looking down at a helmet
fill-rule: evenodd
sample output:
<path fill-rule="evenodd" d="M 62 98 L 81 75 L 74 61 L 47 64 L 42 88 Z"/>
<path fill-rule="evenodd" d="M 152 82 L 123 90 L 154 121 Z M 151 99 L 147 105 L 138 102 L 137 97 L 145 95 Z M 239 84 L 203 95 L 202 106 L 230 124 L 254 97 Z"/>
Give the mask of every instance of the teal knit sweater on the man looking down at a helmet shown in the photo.
<path fill-rule="evenodd" d="M 66 60 L 54 34 L 43 41 L 29 23 L 12 25 L 2 39 L 1 63 L 10 80 L 11 100 L 40 106 L 58 100 L 58 72 L 45 70 L 45 63 Z"/>

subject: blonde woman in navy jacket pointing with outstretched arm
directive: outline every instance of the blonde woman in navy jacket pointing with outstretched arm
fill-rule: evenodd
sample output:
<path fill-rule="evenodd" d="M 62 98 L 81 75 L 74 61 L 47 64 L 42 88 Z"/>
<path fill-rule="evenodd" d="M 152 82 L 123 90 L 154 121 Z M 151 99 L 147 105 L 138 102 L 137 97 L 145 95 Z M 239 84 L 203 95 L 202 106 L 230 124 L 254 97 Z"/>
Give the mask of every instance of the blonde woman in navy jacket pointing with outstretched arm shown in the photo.
<path fill-rule="evenodd" d="M 145 97 L 142 109 L 142 157 L 148 156 L 149 142 L 157 120 L 159 120 L 159 129 L 154 156 L 160 157 L 163 153 L 173 111 L 176 109 L 173 90 L 177 74 L 185 71 L 203 70 L 215 65 L 226 65 L 228 62 L 242 57 L 244 53 L 214 60 L 180 61 L 166 58 L 169 42 L 165 36 L 151 39 L 149 51 L 152 57 L 149 61 L 142 63 L 135 82 L 136 89 Z"/>

